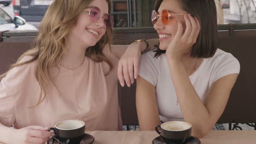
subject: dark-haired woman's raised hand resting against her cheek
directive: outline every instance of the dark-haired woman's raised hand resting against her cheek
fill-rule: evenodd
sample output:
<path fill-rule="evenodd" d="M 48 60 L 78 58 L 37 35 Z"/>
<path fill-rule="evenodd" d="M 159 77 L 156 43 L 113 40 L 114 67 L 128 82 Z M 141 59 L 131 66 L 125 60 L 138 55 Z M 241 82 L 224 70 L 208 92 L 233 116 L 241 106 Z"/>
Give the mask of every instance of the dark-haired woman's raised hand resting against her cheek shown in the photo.
<path fill-rule="evenodd" d="M 184 20 L 186 24 L 184 33 L 182 22 L 178 20 L 177 33 L 166 50 L 166 56 L 168 58 L 182 59 L 196 43 L 201 29 L 199 20 L 196 17 L 192 17 L 190 14 L 184 15 Z"/>

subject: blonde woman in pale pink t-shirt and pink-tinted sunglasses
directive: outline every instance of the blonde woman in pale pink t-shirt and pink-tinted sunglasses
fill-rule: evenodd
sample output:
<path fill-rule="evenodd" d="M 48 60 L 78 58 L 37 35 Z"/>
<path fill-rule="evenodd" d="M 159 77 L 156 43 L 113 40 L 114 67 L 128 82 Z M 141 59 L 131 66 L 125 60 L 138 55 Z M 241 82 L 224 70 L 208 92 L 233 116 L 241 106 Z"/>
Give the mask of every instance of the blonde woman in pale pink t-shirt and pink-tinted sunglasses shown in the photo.
<path fill-rule="evenodd" d="M 48 127 L 66 119 L 86 130 L 122 129 L 118 77 L 133 83 L 146 42 L 110 46 L 110 11 L 110 0 L 50 5 L 35 48 L 0 76 L 0 143 L 45 143 Z"/>

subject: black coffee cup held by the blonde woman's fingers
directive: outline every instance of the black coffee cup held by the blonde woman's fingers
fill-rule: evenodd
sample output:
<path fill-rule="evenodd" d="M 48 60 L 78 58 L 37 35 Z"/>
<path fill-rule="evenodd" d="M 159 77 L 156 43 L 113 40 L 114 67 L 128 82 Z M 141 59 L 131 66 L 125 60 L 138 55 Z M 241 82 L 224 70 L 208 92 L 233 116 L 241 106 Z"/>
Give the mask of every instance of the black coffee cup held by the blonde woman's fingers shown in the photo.
<path fill-rule="evenodd" d="M 84 136 L 85 123 L 79 120 L 67 120 L 55 124 L 54 128 L 49 128 L 48 131 L 53 130 L 55 139 L 60 141 L 69 141 L 69 143 L 79 143 Z M 54 143 L 54 140 L 51 143 Z"/>

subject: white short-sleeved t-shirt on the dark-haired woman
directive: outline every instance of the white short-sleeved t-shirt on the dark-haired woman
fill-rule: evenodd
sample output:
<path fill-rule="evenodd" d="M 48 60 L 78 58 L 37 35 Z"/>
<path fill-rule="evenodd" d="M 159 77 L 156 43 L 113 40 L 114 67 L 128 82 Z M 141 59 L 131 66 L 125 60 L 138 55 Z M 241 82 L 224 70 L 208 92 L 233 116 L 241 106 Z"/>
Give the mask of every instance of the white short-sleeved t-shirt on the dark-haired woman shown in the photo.
<path fill-rule="evenodd" d="M 154 57 L 149 51 L 142 55 L 139 64 L 139 76 L 155 86 L 156 100 L 160 119 L 167 121 L 184 121 L 181 108 L 177 104 L 177 95 L 173 86 L 166 54 Z M 211 58 L 203 59 L 200 67 L 189 79 L 202 101 L 206 98 L 215 81 L 229 74 L 239 74 L 240 64 L 231 53 L 218 49 Z"/>

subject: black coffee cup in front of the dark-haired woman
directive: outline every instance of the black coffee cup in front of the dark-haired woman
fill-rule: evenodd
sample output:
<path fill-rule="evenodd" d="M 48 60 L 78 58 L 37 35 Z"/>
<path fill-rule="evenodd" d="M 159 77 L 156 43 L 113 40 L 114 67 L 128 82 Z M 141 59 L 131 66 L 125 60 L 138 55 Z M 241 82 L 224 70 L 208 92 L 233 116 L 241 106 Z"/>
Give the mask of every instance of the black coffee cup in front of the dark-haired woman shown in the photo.
<path fill-rule="evenodd" d="M 161 131 L 158 129 L 161 128 Z M 183 143 L 191 136 L 192 125 L 188 122 L 171 121 L 155 127 L 155 131 L 162 136 L 166 143 Z"/>

